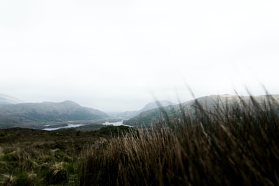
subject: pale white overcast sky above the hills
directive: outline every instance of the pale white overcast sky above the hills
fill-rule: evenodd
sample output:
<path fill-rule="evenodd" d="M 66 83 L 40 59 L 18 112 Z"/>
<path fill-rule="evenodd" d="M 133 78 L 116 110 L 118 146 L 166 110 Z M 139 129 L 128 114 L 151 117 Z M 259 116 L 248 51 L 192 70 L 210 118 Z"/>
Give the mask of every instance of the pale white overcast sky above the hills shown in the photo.
<path fill-rule="evenodd" d="M 1 0 L 0 93 L 103 111 L 279 94 L 279 1 Z"/>

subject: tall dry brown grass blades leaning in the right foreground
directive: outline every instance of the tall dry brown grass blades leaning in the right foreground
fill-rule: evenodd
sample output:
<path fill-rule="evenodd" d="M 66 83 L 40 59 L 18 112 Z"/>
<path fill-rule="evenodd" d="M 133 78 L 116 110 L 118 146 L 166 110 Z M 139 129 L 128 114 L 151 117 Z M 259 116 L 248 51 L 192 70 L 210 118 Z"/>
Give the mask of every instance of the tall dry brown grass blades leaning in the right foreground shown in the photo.
<path fill-rule="evenodd" d="M 213 110 L 181 104 L 149 130 L 86 148 L 80 185 L 279 185 L 275 104 L 252 96 Z"/>

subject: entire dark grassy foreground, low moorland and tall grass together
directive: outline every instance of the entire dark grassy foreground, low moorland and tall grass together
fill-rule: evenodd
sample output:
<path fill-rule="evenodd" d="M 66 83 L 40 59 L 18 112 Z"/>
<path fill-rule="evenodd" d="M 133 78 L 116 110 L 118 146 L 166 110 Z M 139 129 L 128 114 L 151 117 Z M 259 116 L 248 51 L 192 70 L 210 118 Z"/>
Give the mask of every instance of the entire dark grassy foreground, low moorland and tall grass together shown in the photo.
<path fill-rule="evenodd" d="M 272 100 L 270 100 L 272 102 Z M 150 128 L 0 130 L 2 185 L 279 185 L 278 107 L 183 110 Z M 162 112 L 164 112 L 162 110 Z"/>

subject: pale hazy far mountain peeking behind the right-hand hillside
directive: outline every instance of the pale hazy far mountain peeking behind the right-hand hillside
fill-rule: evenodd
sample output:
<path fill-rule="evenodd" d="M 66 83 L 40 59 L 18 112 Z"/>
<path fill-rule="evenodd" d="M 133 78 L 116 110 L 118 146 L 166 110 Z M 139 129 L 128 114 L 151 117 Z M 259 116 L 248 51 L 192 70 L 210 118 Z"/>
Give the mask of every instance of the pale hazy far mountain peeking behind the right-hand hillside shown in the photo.
<path fill-rule="evenodd" d="M 121 118 L 127 118 L 127 119 L 128 118 L 133 118 L 135 116 L 138 116 L 139 114 L 141 114 L 144 111 L 148 111 L 148 110 L 151 110 L 151 109 L 156 109 L 156 108 L 158 108 L 158 106 L 166 107 L 166 106 L 169 106 L 169 105 L 174 105 L 174 103 L 166 101 L 166 100 L 149 102 L 142 109 L 140 109 L 138 111 L 126 111 L 122 114 L 119 114 L 118 116 L 121 117 Z"/>

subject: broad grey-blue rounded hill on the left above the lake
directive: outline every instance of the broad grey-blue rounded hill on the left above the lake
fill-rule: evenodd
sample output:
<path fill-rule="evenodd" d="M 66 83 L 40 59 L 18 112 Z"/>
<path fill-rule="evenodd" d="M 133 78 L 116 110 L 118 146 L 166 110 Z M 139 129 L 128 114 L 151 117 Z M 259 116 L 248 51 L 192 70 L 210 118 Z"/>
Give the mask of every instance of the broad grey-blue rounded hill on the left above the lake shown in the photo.
<path fill-rule="evenodd" d="M 88 121 L 107 118 L 97 109 L 81 107 L 72 101 L 0 105 L 0 127 L 26 127 L 46 122 Z"/>

